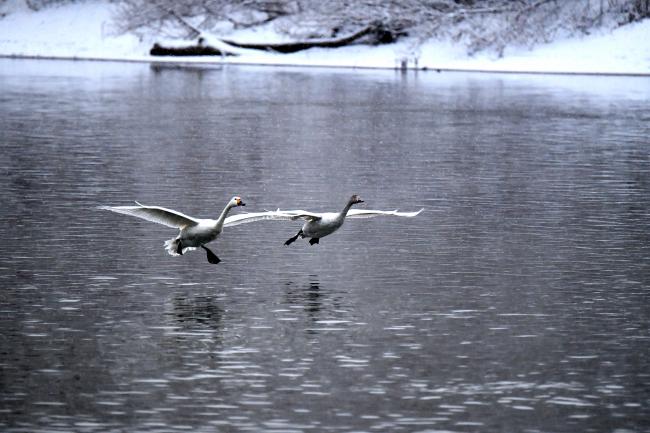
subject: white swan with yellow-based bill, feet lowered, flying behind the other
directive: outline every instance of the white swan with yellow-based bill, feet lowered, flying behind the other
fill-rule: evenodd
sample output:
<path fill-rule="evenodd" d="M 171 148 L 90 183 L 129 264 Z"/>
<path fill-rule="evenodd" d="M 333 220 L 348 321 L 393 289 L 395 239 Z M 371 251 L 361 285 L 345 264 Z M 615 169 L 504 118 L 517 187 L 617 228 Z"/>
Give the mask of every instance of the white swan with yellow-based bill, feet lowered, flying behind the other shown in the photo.
<path fill-rule="evenodd" d="M 99 209 L 109 210 L 120 214 L 131 215 L 147 221 L 180 229 L 178 236 L 165 241 L 165 249 L 172 256 L 183 255 L 183 253 L 201 247 L 205 250 L 208 262 L 217 264 L 221 261 L 205 244 L 212 242 L 221 234 L 224 227 L 234 226 L 253 221 L 265 219 L 287 219 L 277 217 L 279 211 L 251 212 L 228 217 L 230 209 L 238 206 L 246 206 L 241 197 L 233 197 L 219 215 L 219 218 L 202 219 L 193 218 L 173 209 L 160 206 L 145 206 L 135 202 L 137 206 L 99 206 Z"/>

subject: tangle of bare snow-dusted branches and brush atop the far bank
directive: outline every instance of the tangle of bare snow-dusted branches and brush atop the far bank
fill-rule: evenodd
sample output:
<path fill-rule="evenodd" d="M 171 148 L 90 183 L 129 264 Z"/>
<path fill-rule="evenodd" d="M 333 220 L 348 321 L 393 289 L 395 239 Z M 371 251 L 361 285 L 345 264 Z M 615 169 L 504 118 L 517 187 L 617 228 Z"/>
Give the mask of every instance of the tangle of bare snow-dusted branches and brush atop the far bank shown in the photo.
<path fill-rule="evenodd" d="M 37 0 L 33 0 L 37 1 Z M 47 1 L 47 0 L 40 0 Z M 366 42 L 446 38 L 468 52 L 503 54 L 557 36 L 586 34 L 649 16 L 650 0 L 121 0 L 121 31 L 154 29 L 195 38 L 197 32 L 273 23 L 297 40 L 334 38 L 375 26 Z M 188 25 L 189 24 L 189 25 Z M 355 43 L 359 42 L 355 40 Z"/>

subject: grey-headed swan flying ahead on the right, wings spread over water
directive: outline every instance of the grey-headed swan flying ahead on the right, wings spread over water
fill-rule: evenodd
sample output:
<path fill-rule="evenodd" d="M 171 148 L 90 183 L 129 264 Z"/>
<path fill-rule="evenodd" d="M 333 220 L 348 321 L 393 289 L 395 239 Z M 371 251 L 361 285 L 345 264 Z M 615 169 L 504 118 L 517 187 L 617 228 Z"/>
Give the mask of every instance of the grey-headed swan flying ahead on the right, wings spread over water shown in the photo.
<path fill-rule="evenodd" d="M 379 215 L 393 215 L 401 217 L 414 217 L 419 215 L 424 209 L 420 209 L 417 212 L 397 212 L 393 211 L 382 211 L 382 210 L 365 210 L 365 209 L 353 209 L 350 208 L 352 205 L 357 203 L 363 203 L 361 197 L 358 195 L 353 195 L 350 197 L 348 202 L 345 204 L 343 210 L 339 213 L 337 212 L 327 212 L 327 213 L 314 213 L 307 212 L 303 210 L 285 210 L 278 213 L 275 217 L 276 219 L 286 219 L 288 216 L 291 220 L 304 219 L 306 222 L 303 224 L 302 228 L 296 233 L 295 236 L 289 238 L 284 244 L 291 245 L 299 237 L 300 238 L 311 238 L 309 239 L 309 244 L 317 244 L 320 238 L 331 235 L 337 231 L 345 222 L 346 218 L 372 218 Z"/>

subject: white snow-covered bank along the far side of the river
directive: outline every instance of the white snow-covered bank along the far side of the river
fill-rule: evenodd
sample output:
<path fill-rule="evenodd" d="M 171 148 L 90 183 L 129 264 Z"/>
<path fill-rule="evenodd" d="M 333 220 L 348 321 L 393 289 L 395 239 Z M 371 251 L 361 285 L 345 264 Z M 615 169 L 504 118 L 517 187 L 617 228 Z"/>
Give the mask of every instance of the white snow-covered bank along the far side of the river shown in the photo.
<path fill-rule="evenodd" d="M 150 56 L 149 49 L 154 42 L 172 41 L 115 33 L 114 4 L 97 0 L 34 12 L 21 3 L 8 1 L 0 10 L 6 13 L 0 18 L 0 56 L 351 68 L 394 68 L 407 61 L 409 67 L 434 70 L 650 75 L 650 20 L 533 50 L 511 48 L 502 58 L 490 53 L 470 57 L 464 47 L 448 41 L 416 45 L 409 40 L 376 47 L 314 48 L 294 54 L 238 50 L 239 56 L 223 59 L 165 58 Z M 228 37 L 247 41 L 277 38 L 268 30 L 246 30 Z"/>

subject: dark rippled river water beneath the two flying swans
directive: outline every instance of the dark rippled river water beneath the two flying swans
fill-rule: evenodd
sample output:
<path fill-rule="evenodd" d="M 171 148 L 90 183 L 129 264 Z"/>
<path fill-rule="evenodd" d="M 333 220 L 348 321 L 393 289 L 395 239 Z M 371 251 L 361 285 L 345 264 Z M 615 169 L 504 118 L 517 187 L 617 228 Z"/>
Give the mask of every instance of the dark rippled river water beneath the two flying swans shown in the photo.
<path fill-rule="evenodd" d="M 650 80 L 0 61 L 0 430 L 650 431 Z M 425 212 L 175 231 L 97 205 Z"/>

